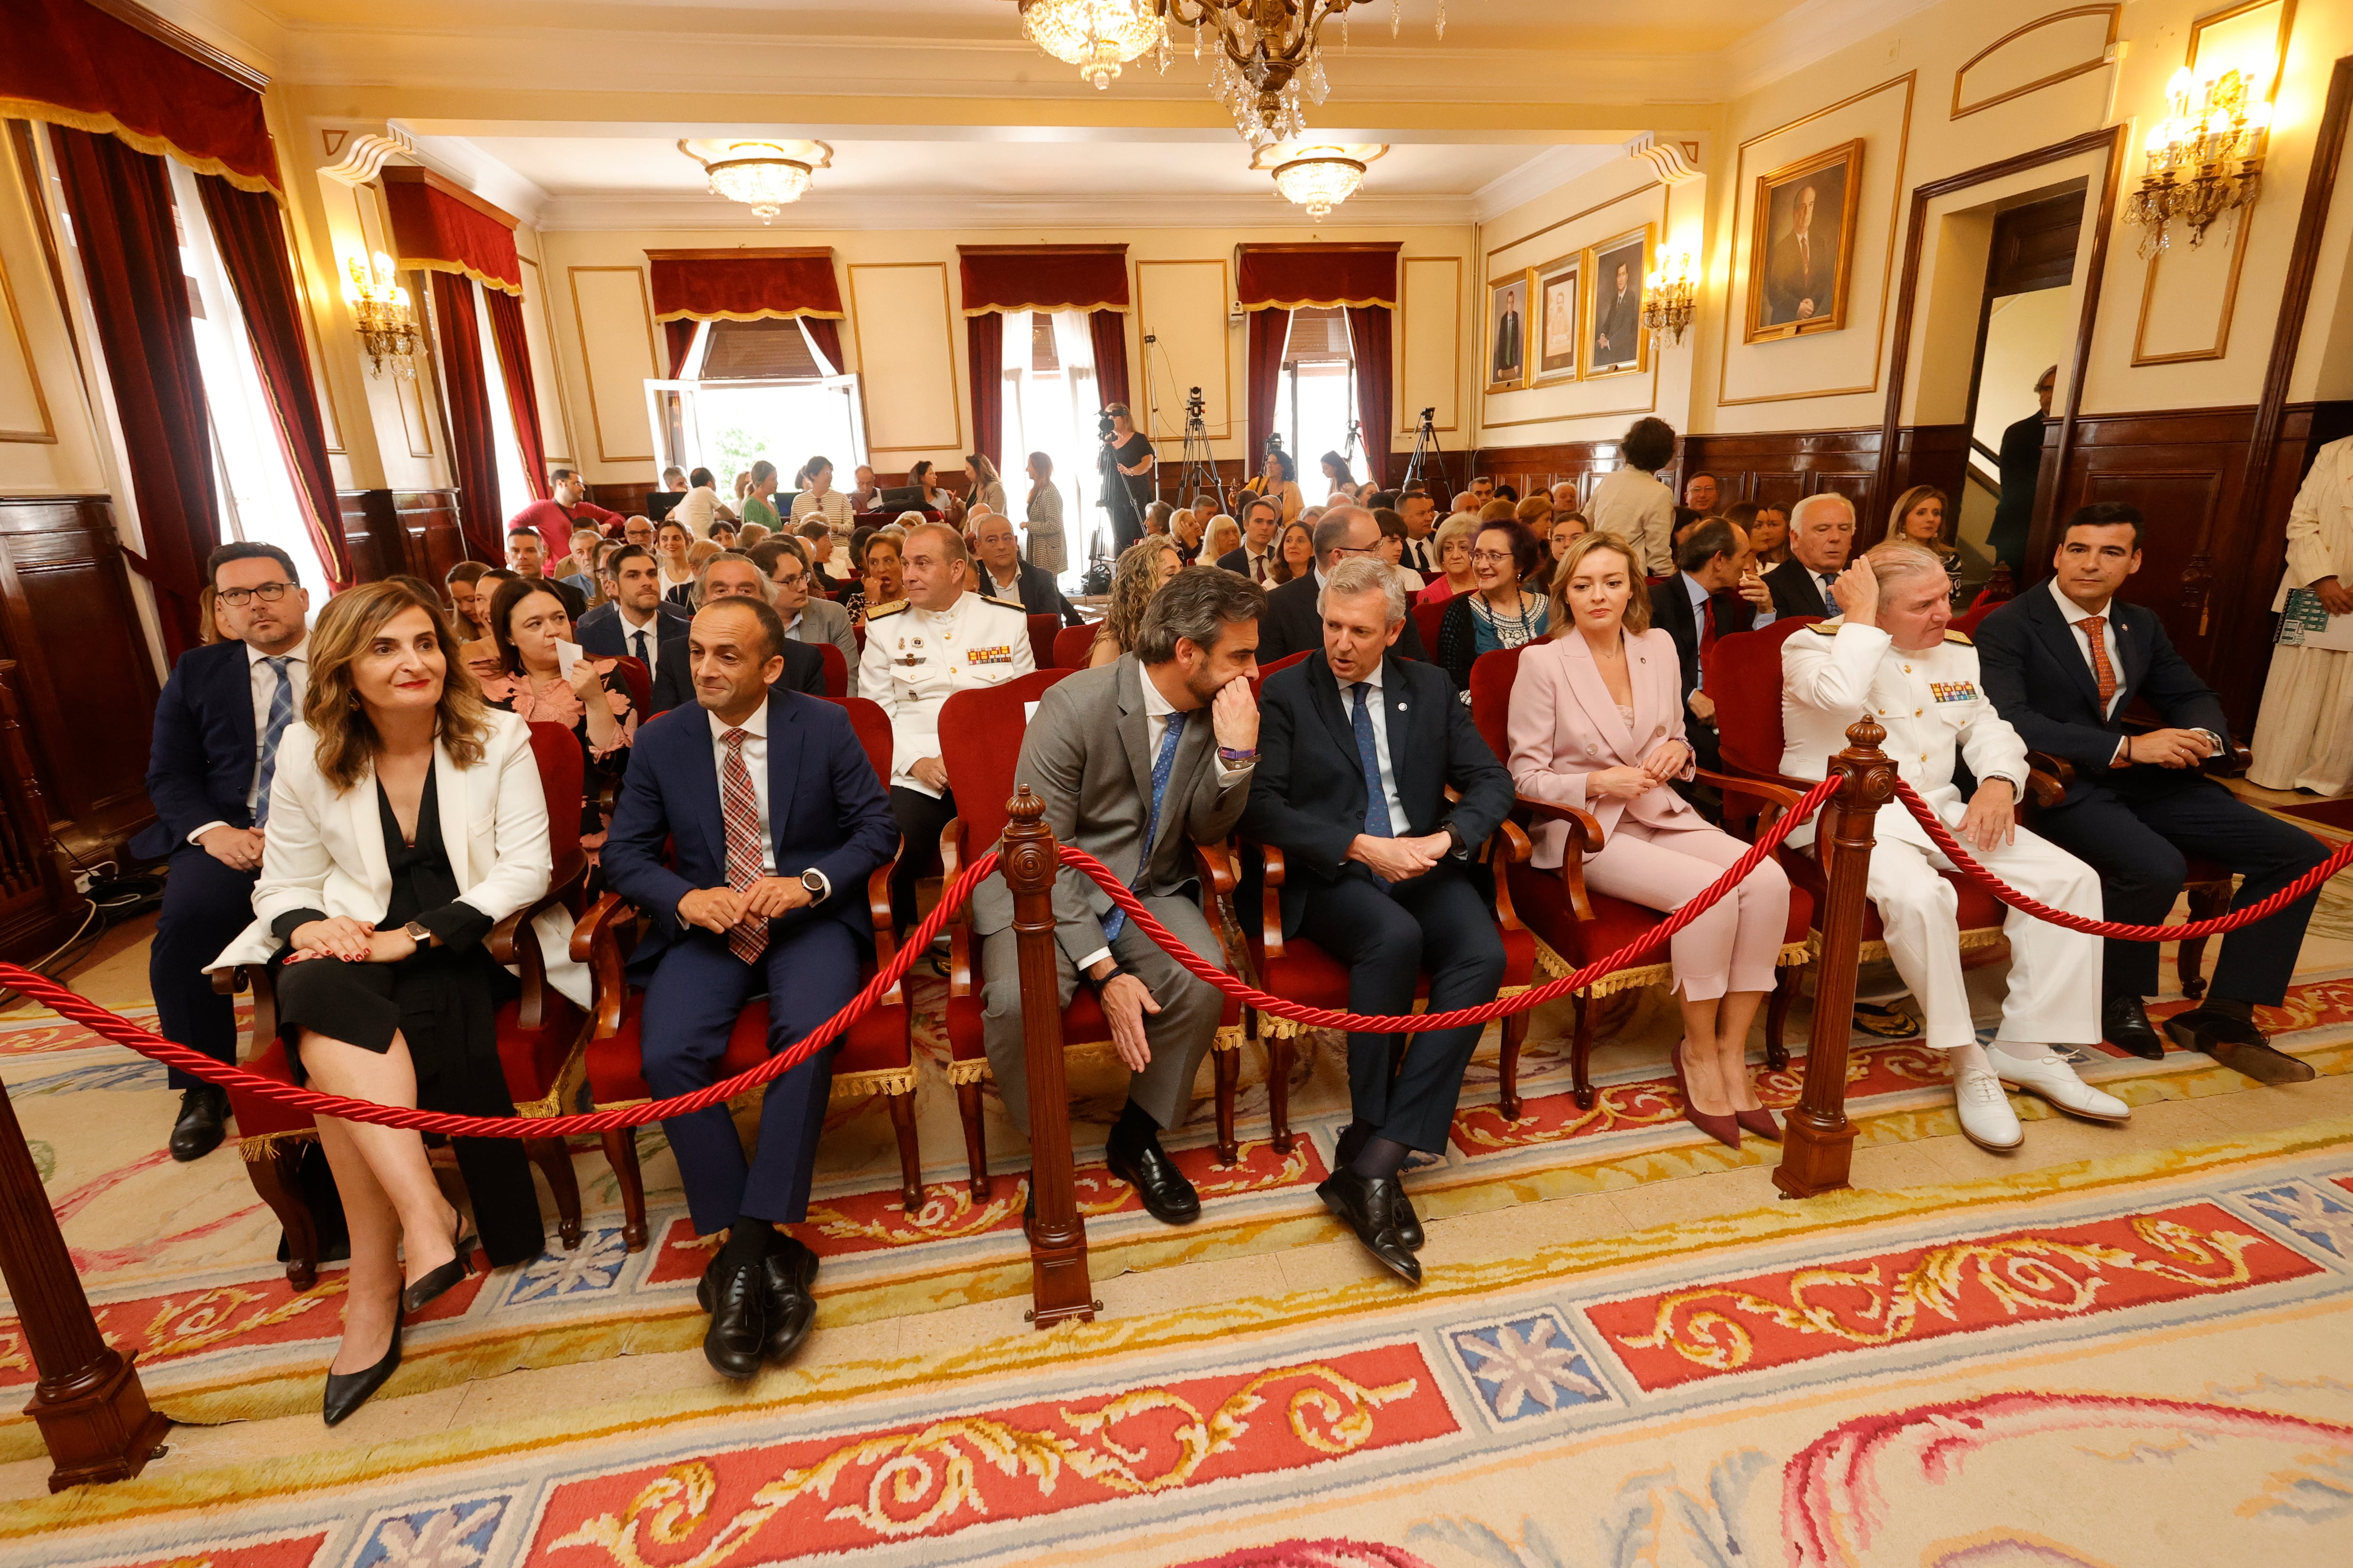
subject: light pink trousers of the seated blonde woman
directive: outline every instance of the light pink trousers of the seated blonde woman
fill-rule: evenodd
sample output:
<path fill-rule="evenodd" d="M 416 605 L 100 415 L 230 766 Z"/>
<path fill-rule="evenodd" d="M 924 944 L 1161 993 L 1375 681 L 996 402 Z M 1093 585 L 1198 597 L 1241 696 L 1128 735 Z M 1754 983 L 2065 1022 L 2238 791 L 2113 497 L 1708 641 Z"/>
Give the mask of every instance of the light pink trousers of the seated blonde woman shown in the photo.
<path fill-rule="evenodd" d="M 1586 860 L 1586 891 L 1645 910 L 1680 910 L 1746 853 L 1746 844 L 1715 827 L 1659 830 L 1621 816 L 1602 853 Z M 1675 933 L 1668 952 L 1685 999 L 1769 992 L 1786 931 L 1788 877 L 1765 860 Z"/>

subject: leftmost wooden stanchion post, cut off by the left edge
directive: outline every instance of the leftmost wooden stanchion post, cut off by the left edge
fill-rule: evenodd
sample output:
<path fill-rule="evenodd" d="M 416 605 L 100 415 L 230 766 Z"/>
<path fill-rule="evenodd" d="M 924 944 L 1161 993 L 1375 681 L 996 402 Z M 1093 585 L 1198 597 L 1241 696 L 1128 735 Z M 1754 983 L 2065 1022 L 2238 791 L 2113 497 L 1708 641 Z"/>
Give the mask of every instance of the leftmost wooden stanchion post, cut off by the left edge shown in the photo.
<path fill-rule="evenodd" d="M 49 1446 L 49 1490 L 127 1481 L 160 1453 L 167 1422 L 148 1408 L 129 1356 L 99 1333 L 73 1253 L 56 1229 L 16 1107 L 0 1088 L 0 1276 L 40 1382 L 24 1410 Z"/>

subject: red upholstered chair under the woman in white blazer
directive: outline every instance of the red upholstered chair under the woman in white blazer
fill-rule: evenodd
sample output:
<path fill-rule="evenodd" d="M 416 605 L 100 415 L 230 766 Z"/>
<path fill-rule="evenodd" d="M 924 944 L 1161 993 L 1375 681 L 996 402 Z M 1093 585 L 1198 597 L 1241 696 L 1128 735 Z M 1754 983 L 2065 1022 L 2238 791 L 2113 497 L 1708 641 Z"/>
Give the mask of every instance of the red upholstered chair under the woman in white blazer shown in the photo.
<path fill-rule="evenodd" d="M 546 983 L 539 940 L 532 936 L 529 922 L 553 905 L 576 907 L 588 877 L 576 804 L 581 797 L 581 748 L 562 724 L 532 724 L 532 755 L 539 762 L 539 785 L 548 797 L 548 851 L 555 875 L 536 903 L 492 929 L 485 947 L 489 947 L 489 957 L 513 964 L 522 976 L 522 994 L 501 1006 L 496 1018 L 499 1067 L 506 1072 L 506 1091 L 515 1100 L 515 1114 L 558 1117 L 567 1110 L 565 1103 L 579 1084 L 588 1020 Z M 278 1041 L 278 994 L 271 971 L 235 969 L 214 976 L 214 987 L 224 992 L 238 992 L 245 985 L 254 987 L 254 1037 L 242 1065 L 261 1077 L 292 1084 L 287 1051 Z M 287 1284 L 308 1291 L 318 1284 L 318 1225 L 301 1185 L 294 1180 L 294 1166 L 301 1159 L 301 1145 L 318 1138 L 318 1124 L 311 1112 L 245 1088 L 228 1091 L 228 1110 L 238 1119 L 238 1154 L 245 1157 L 245 1175 L 252 1178 L 254 1192 L 285 1227 Z M 560 1138 L 527 1138 L 522 1152 L 539 1166 L 548 1192 L 555 1194 L 555 1229 L 565 1251 L 576 1248 L 581 1244 L 581 1190 L 572 1173 L 572 1154 Z"/>

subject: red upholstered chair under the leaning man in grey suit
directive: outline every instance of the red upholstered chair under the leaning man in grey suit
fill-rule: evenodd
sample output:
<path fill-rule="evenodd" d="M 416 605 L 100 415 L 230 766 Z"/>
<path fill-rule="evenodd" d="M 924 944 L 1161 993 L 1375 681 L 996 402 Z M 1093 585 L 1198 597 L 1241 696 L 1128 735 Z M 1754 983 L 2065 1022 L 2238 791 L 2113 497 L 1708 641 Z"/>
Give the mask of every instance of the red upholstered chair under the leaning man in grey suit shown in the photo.
<path fill-rule="evenodd" d="M 939 710 L 939 759 L 948 769 L 948 792 L 955 795 L 955 820 L 939 835 L 939 860 L 953 882 L 958 870 L 986 853 L 1005 835 L 1005 809 L 1014 795 L 1014 766 L 1021 759 L 1021 736 L 1028 729 L 1028 705 L 1047 693 L 1068 670 L 1040 670 L 1000 686 L 958 691 Z M 1235 959 L 1231 929 L 1217 910 L 1233 896 L 1233 870 L 1224 846 L 1193 846 L 1202 886 L 1209 893 L 1209 924 L 1226 940 L 1226 964 Z M 955 1107 L 965 1119 L 965 1157 L 972 1166 L 972 1197 L 988 1197 L 988 1143 L 981 1131 L 981 1084 L 991 1079 L 988 1048 L 981 1039 L 981 943 L 972 936 L 972 905 L 955 912 L 948 929 L 948 1081 L 955 1084 Z M 1111 1056 L 1111 1025 L 1094 1001 L 1094 990 L 1080 985 L 1061 1011 L 1066 1056 Z M 1242 1009 L 1226 1001 L 1209 1060 L 1217 1067 L 1217 1152 L 1224 1164 L 1240 1159 L 1233 1133 L 1233 1098 L 1240 1081 Z M 1289 1126 L 1278 1117 L 1275 1138 L 1289 1147 Z"/>

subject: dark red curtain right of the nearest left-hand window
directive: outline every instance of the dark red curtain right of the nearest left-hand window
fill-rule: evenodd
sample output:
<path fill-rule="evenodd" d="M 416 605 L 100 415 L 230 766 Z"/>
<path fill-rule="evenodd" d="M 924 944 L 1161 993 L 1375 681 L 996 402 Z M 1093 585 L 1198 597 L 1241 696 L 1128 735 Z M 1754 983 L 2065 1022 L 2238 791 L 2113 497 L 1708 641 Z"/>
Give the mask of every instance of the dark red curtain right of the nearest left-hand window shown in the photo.
<path fill-rule="evenodd" d="M 238 190 L 216 174 L 198 174 L 195 188 L 205 195 L 205 216 L 212 219 L 221 268 L 238 289 L 245 336 L 254 343 L 254 364 L 261 369 L 261 390 L 271 395 L 278 444 L 287 454 L 294 491 L 311 512 L 311 545 L 327 564 L 334 588 L 351 588 L 344 512 L 334 498 L 327 428 L 318 416 L 318 386 L 311 381 L 311 348 L 301 329 L 278 197 L 266 190 Z"/>

